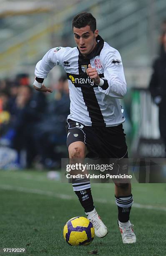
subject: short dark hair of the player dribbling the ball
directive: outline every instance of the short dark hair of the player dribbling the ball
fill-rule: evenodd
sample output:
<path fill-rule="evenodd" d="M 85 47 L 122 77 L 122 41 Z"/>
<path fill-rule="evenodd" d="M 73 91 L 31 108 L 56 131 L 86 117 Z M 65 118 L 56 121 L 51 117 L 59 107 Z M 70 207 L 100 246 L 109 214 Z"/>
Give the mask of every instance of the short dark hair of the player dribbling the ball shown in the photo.
<path fill-rule="evenodd" d="M 91 13 L 79 13 L 73 18 L 72 26 L 75 28 L 84 28 L 90 26 L 93 33 L 96 30 L 96 18 Z"/>

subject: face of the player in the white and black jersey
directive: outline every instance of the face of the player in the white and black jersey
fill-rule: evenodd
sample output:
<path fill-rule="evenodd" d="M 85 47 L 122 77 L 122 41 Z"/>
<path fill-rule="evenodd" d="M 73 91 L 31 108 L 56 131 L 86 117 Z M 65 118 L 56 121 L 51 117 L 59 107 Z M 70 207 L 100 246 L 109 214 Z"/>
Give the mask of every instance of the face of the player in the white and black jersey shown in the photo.
<path fill-rule="evenodd" d="M 81 54 L 88 55 L 93 51 L 96 46 L 96 37 L 98 36 L 98 30 L 91 31 L 90 26 L 83 28 L 73 27 L 75 43 L 78 46 Z"/>

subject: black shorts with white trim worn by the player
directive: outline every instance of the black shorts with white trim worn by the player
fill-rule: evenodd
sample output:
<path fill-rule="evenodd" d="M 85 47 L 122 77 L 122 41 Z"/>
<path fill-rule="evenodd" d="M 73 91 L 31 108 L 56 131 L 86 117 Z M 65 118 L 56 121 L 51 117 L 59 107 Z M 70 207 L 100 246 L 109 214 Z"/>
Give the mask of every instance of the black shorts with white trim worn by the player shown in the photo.
<path fill-rule="evenodd" d="M 86 144 L 86 157 L 98 158 L 128 158 L 126 134 L 123 125 L 112 127 L 92 127 L 68 119 L 66 121 L 67 147 L 76 141 Z"/>

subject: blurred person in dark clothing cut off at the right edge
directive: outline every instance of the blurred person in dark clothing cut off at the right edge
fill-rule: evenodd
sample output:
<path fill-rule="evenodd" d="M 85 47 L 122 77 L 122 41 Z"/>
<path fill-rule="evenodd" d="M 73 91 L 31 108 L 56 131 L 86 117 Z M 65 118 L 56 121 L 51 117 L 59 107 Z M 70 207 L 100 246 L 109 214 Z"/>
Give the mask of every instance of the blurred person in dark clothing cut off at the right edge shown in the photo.
<path fill-rule="evenodd" d="M 159 107 L 159 128 L 160 134 L 166 145 L 166 31 L 163 33 L 163 51 L 153 63 L 153 74 L 149 89 L 153 101 Z"/>

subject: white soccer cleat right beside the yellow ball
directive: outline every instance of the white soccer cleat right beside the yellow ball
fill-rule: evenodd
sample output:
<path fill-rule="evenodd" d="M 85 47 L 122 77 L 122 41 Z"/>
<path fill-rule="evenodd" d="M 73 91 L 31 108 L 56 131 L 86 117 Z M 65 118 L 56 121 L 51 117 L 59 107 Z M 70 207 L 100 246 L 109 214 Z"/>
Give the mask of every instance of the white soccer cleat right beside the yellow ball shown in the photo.
<path fill-rule="evenodd" d="M 100 238 L 105 237 L 108 234 L 107 227 L 104 225 L 95 208 L 91 212 L 86 212 L 86 215 L 88 215 L 88 220 L 93 224 L 95 235 Z"/>

